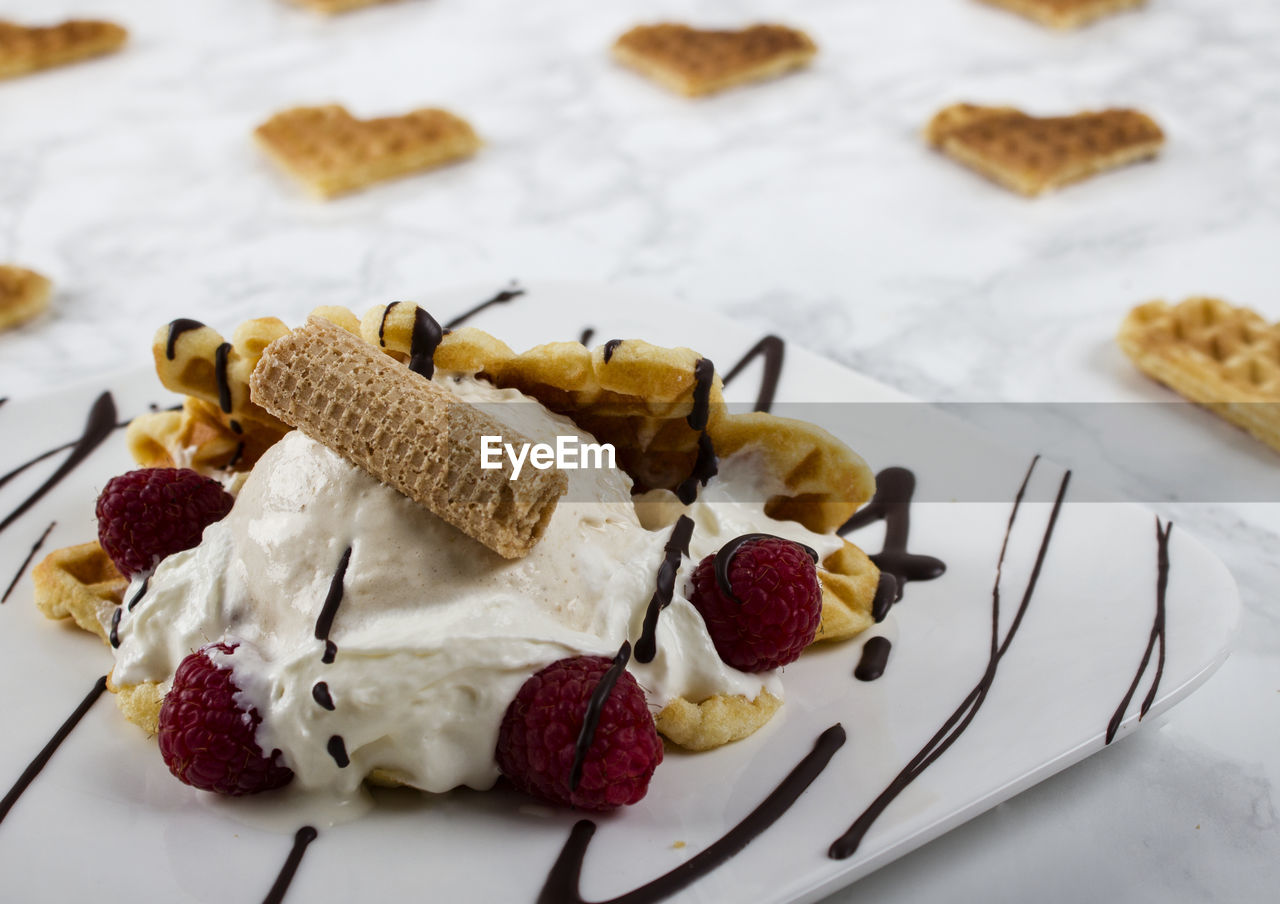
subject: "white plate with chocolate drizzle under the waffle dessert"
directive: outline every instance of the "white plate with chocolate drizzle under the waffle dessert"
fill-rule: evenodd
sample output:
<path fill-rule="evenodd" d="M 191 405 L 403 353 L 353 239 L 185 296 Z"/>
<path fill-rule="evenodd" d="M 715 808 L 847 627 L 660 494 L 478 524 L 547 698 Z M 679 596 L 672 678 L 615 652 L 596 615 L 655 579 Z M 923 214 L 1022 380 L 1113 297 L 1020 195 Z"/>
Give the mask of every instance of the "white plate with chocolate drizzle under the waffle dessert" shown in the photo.
<path fill-rule="evenodd" d="M 908 583 L 868 633 L 891 642 L 883 676 L 854 676 L 865 638 L 810 649 L 786 668 L 786 706 L 762 731 L 668 753 L 644 802 L 591 823 L 502 789 L 378 791 L 372 812 L 334 825 L 271 796 L 192 791 L 100 694 L 108 650 L 31 602 L 33 544 L 31 562 L 93 538 L 99 489 L 132 466 L 122 432 L 74 446 L 95 401 L 110 391 L 115 421 L 174 402 L 140 366 L 0 405 L 0 474 L 63 447 L 0 478 L 0 593 L 17 575 L 0 607 L 4 898 L 814 901 L 1101 750 L 1228 654 L 1239 599 L 1222 563 L 1151 512 L 1100 501 L 1039 449 L 997 444 L 801 348 L 649 297 L 531 284 L 475 310 L 488 288 L 419 301 L 442 321 L 470 314 L 517 348 L 588 329 L 591 343 L 695 347 L 732 374 L 730 400 L 773 396 L 776 414 L 822 424 L 874 469 L 914 471 L 910 506 L 900 496 L 881 507 L 884 524 L 864 517 L 849 534 L 877 553 L 905 533 L 905 571 L 913 556 L 946 562 L 941 577 Z M 296 836 L 303 825 L 317 831 Z"/>

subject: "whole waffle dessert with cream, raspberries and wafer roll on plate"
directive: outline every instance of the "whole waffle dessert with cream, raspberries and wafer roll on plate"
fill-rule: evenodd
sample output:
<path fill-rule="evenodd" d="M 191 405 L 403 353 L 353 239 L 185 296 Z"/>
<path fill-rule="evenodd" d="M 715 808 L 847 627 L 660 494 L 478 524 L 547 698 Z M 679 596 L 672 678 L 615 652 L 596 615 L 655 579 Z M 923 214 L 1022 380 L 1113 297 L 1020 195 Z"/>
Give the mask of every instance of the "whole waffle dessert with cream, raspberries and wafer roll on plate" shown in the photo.
<path fill-rule="evenodd" d="M 745 738 L 782 704 L 777 667 L 873 622 L 879 572 L 837 529 L 874 479 L 829 434 L 728 414 L 713 366 L 690 350 L 628 339 L 517 355 L 428 320 L 393 303 L 362 319 L 324 309 L 297 330 L 251 321 L 234 342 L 186 320 L 157 333 L 161 379 L 195 394 L 134 420 L 129 447 L 152 470 L 123 475 L 106 496 L 186 487 L 174 517 L 202 529 L 200 540 L 177 552 L 129 540 L 129 560 L 110 538 L 125 534 L 122 520 L 155 520 L 138 513 L 151 510 L 104 503 L 101 545 L 59 551 L 36 586 L 46 615 L 108 640 L 109 689 L 131 721 L 160 732 L 175 775 L 241 794 L 274 787 L 287 770 L 303 790 L 344 796 L 366 780 L 484 789 L 502 772 L 543 798 L 608 808 L 643 795 L 662 750 L 609 738 L 662 732 L 695 750 Z M 362 401 L 351 374 L 399 407 Z M 381 442 L 369 424 L 396 434 L 413 406 L 471 406 L 468 417 L 531 440 L 607 435 L 618 466 L 562 469 L 541 533 L 506 558 L 380 480 L 385 462 L 361 466 L 358 438 Z M 229 435 L 261 437 L 276 417 L 302 424 L 300 411 L 328 424 L 311 435 L 285 426 L 252 460 L 220 458 Z M 406 460 L 433 444 L 439 437 L 393 440 Z M 188 476 L 193 465 L 205 476 Z M 221 517 L 219 484 L 236 496 Z M 500 528 L 511 513 L 484 517 Z M 142 531 L 161 533 L 175 530 Z M 145 562 L 156 563 L 138 570 Z M 695 565 L 703 577 L 690 580 Z M 564 677 L 582 670 L 602 677 L 589 689 Z M 543 703 L 516 706 L 526 698 Z M 247 759 L 193 759 L 200 732 L 228 720 L 252 727 L 241 731 Z M 566 747 L 568 729 L 579 738 Z M 558 791 L 527 766 L 544 748 Z M 620 770 L 635 782 L 612 781 Z"/>

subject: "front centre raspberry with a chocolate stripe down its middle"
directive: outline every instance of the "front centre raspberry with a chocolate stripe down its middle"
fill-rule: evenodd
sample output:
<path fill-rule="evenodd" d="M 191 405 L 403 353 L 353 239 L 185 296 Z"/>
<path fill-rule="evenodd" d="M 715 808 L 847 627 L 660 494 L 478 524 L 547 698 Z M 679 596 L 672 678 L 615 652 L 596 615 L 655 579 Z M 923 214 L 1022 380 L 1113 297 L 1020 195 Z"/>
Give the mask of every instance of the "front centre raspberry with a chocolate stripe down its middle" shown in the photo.
<path fill-rule="evenodd" d="M 613 663 L 603 656 L 561 659 L 525 681 L 498 731 L 498 768 L 516 787 L 544 800 L 590 811 L 634 804 L 662 762 L 662 740 L 630 672 L 605 698 L 581 781 L 570 789 L 588 703 Z"/>

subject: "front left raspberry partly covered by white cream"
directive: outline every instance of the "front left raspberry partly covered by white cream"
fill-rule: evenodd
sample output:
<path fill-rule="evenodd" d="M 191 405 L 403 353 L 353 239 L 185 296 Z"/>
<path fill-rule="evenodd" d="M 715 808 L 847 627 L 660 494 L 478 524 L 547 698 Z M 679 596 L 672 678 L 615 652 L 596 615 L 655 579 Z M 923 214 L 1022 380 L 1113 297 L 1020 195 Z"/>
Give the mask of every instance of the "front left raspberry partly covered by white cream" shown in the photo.
<path fill-rule="evenodd" d="M 257 794 L 282 787 L 293 771 L 280 752 L 268 757 L 253 735 L 262 717 L 236 704 L 230 668 L 220 668 L 209 650 L 230 653 L 234 645 L 205 647 L 178 666 L 160 707 L 160 753 L 180 781 L 218 794 Z"/>

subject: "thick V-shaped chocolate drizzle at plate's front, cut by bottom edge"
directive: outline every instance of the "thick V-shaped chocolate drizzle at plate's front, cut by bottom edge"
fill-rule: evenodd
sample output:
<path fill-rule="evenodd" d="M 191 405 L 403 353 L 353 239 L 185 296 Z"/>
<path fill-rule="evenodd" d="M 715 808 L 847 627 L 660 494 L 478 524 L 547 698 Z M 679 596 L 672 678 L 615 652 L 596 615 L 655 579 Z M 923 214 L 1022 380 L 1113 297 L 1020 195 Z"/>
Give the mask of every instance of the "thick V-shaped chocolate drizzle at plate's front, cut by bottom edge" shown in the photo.
<path fill-rule="evenodd" d="M 832 725 L 818 736 L 813 750 L 796 763 L 759 807 L 705 850 L 652 882 L 599 904 L 652 904 L 689 887 L 723 866 L 791 808 L 814 779 L 822 775 L 844 743 L 844 727 L 838 723 Z M 588 904 L 581 891 L 582 862 L 586 859 L 586 849 L 594 834 L 595 823 L 590 819 L 580 819 L 573 825 L 564 848 L 547 876 L 541 894 L 538 895 L 538 904 Z"/>

